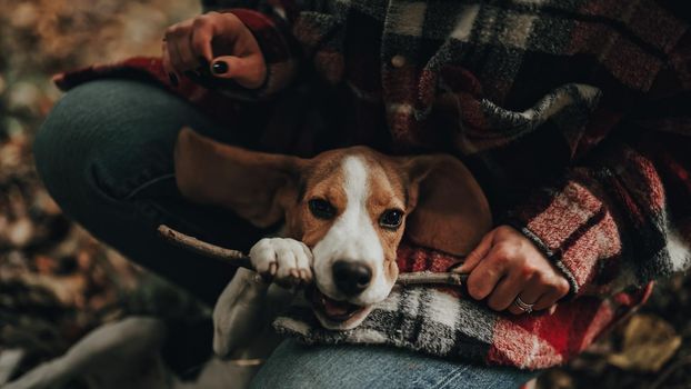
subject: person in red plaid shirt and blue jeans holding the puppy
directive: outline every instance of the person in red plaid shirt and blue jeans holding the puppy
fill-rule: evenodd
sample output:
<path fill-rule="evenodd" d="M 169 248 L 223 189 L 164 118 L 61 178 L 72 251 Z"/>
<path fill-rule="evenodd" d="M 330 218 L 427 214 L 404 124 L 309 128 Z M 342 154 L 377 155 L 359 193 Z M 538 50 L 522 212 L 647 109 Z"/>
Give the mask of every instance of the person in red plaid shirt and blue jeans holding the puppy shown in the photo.
<path fill-rule="evenodd" d="M 93 235 L 214 301 L 232 269 L 167 246 L 156 226 L 240 249 L 264 231 L 181 198 L 183 126 L 300 156 L 449 152 L 495 216 L 455 269 L 469 297 L 451 319 L 411 293 L 418 310 L 377 333 L 283 327 L 321 346 L 287 340 L 254 386 L 517 387 L 688 266 L 691 36 L 675 2 L 207 4 L 231 6 L 169 28 L 162 61 L 58 80 L 73 89 L 39 132 L 37 166 Z"/>

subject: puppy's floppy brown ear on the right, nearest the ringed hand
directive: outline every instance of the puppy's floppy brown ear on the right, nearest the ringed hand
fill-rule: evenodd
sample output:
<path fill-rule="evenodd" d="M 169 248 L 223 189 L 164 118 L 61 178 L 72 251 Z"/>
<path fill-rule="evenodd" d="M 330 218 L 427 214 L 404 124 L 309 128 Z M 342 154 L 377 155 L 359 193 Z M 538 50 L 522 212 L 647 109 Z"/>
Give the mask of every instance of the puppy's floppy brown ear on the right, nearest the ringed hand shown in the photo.
<path fill-rule="evenodd" d="M 412 157 L 403 166 L 409 176 L 405 235 L 420 246 L 465 256 L 492 227 L 482 189 L 452 156 Z"/>

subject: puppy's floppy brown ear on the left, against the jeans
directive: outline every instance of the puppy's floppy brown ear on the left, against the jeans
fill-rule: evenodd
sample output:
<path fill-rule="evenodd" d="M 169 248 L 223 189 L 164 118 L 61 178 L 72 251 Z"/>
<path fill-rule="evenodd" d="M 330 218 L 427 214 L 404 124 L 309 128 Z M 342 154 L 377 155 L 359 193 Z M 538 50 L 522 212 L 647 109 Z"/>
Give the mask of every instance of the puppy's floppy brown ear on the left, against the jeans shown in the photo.
<path fill-rule="evenodd" d="M 269 227 L 297 201 L 304 160 L 223 144 L 183 128 L 174 163 L 183 197 L 224 207 L 258 227 Z"/>

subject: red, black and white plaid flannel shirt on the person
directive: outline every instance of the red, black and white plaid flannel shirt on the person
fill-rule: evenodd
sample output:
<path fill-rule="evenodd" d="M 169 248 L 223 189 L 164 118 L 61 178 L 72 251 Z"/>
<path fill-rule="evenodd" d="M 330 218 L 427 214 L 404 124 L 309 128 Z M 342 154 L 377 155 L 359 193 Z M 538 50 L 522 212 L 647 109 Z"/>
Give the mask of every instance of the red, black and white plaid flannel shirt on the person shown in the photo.
<path fill-rule="evenodd" d="M 485 190 L 497 223 L 522 231 L 571 283 L 551 316 L 505 316 L 461 290 L 409 287 L 354 330 L 327 331 L 297 306 L 276 321 L 279 331 L 307 342 L 385 343 L 545 368 L 644 301 L 652 280 L 689 266 L 691 33 L 682 1 L 206 6 L 232 8 L 252 30 L 268 81 L 242 90 L 182 80 L 171 92 L 229 126 L 248 103 L 262 107 L 276 120 L 243 123 L 266 133 L 268 150 L 310 156 L 367 143 L 458 156 Z M 156 59 L 57 81 L 67 89 L 143 74 L 168 86 Z M 408 245 L 399 250 L 401 271 L 443 271 L 457 260 Z"/>

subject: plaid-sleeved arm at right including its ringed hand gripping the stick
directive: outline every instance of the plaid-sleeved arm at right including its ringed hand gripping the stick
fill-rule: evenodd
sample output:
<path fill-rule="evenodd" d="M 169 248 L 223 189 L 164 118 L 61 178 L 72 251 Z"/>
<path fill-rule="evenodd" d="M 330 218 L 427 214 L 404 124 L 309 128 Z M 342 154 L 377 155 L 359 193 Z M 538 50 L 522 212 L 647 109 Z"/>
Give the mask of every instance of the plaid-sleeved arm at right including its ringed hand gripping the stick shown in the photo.
<path fill-rule="evenodd" d="M 691 265 L 691 34 L 644 101 L 587 158 L 539 188 L 458 271 L 490 308 L 608 296 Z M 519 233 L 520 232 L 520 233 Z M 568 280 L 568 285 L 564 285 Z"/>

